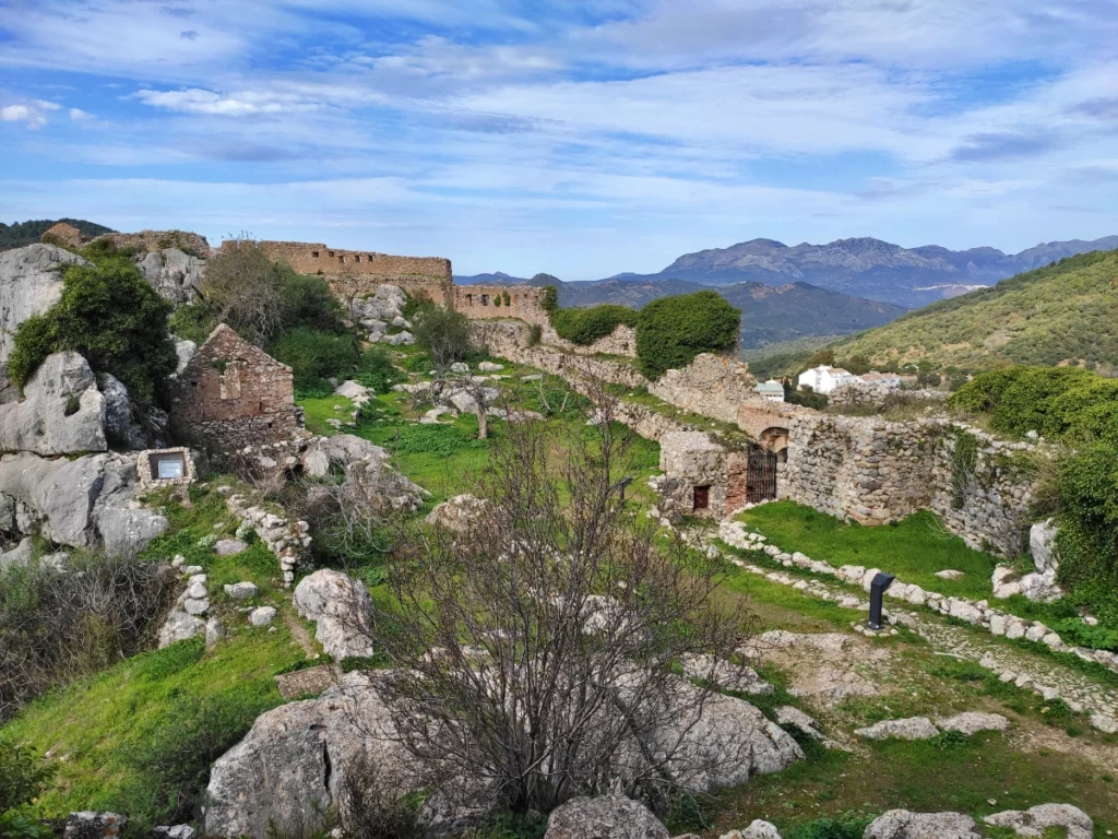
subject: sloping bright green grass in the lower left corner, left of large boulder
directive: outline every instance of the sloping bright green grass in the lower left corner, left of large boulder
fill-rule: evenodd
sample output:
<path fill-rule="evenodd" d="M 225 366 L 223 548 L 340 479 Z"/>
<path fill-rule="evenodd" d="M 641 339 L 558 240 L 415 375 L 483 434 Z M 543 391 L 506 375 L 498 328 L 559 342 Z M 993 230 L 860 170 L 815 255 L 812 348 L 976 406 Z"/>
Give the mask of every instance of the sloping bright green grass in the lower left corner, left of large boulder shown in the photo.
<path fill-rule="evenodd" d="M 149 824 L 167 816 L 165 781 L 152 765 L 181 763 L 177 753 L 189 746 L 173 743 L 170 733 L 201 707 L 224 710 L 224 751 L 258 714 L 282 703 L 273 676 L 304 657 L 277 625 L 272 633 L 238 630 L 212 654 L 205 653 L 201 639 L 143 653 L 32 703 L 3 730 L 59 758 L 37 813 L 59 818 L 72 810 L 112 810 Z M 153 754 L 159 744 L 171 754 Z"/>

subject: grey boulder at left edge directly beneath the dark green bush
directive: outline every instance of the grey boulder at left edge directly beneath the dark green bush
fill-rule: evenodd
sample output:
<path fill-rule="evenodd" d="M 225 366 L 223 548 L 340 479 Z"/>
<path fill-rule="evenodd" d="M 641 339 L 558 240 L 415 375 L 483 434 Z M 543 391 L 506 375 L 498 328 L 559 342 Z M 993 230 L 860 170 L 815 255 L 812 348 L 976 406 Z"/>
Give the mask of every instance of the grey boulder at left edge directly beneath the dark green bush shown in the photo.
<path fill-rule="evenodd" d="M 89 362 L 76 352 L 47 356 L 23 399 L 0 405 L 0 451 L 76 454 L 107 447 L 105 397 Z"/>

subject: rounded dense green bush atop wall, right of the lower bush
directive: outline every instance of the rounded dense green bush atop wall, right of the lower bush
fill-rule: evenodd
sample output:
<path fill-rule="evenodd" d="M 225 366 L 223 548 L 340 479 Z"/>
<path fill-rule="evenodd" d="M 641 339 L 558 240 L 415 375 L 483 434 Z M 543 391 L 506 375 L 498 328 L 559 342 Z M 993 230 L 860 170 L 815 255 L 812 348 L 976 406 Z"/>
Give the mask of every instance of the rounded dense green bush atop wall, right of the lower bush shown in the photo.
<path fill-rule="evenodd" d="M 661 298 L 641 310 L 636 357 L 651 379 L 686 367 L 702 352 L 728 352 L 738 346 L 741 312 L 718 292 Z"/>

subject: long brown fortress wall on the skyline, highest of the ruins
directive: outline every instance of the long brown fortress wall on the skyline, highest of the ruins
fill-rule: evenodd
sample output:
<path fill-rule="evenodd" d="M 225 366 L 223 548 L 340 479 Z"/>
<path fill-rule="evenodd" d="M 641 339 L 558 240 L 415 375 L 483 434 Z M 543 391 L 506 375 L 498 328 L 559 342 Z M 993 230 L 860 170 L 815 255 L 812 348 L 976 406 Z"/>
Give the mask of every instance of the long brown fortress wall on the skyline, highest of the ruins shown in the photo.
<path fill-rule="evenodd" d="M 322 274 L 337 284 L 340 276 L 353 277 L 368 296 L 378 285 L 399 285 L 409 294 L 424 294 L 436 303 L 453 303 L 451 261 L 442 256 L 392 256 L 375 251 L 345 251 L 319 242 L 238 242 L 227 239 L 221 251 L 255 246 L 272 260 L 283 260 L 301 274 Z"/>

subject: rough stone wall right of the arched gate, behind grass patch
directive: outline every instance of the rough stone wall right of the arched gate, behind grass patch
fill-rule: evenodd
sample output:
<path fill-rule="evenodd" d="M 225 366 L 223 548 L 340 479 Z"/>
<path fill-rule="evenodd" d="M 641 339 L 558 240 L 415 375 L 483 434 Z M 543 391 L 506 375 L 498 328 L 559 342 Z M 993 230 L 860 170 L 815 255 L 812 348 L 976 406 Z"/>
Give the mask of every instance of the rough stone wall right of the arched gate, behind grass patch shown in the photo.
<path fill-rule="evenodd" d="M 960 435 L 975 441 L 973 465 L 959 465 Z M 1004 556 L 1024 548 L 1033 478 L 1018 453 L 1027 444 L 945 418 L 889 423 L 814 412 L 793 418 L 789 439 L 780 498 L 864 525 L 931 509 L 970 547 Z"/>

